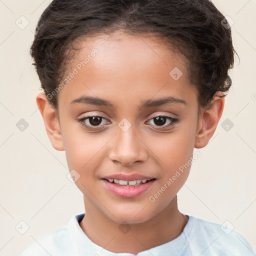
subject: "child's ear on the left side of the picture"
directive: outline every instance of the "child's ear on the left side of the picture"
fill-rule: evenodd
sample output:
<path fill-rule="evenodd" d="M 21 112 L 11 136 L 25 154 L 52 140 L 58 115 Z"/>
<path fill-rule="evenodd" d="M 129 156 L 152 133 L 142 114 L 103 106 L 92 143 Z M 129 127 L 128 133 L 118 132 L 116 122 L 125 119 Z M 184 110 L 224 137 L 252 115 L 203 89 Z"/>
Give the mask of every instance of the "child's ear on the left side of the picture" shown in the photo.
<path fill-rule="evenodd" d="M 64 146 L 56 110 L 51 105 L 49 105 L 47 97 L 44 93 L 39 93 L 36 96 L 36 104 L 42 115 L 51 145 L 56 150 L 63 151 Z"/>

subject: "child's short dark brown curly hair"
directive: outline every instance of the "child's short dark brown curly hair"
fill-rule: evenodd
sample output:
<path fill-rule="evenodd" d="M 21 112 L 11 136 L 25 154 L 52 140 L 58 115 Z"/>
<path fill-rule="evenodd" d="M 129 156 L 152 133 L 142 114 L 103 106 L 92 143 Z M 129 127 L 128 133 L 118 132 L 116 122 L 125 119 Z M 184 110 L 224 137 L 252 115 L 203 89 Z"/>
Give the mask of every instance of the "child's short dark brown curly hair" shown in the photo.
<path fill-rule="evenodd" d="M 44 93 L 52 93 L 64 77 L 76 39 L 116 30 L 156 35 L 185 56 L 199 106 L 215 92 L 229 90 L 228 70 L 237 53 L 227 20 L 210 0 L 53 0 L 38 20 L 30 47 Z M 48 102 L 57 109 L 57 96 Z"/>

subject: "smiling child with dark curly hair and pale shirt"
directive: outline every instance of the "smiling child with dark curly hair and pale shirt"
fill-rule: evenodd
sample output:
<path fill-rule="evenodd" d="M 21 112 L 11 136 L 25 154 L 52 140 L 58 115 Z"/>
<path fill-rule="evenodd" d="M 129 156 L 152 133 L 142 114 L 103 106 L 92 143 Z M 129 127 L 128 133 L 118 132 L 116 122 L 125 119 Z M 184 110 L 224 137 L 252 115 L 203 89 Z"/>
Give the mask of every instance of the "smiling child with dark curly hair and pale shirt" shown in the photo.
<path fill-rule="evenodd" d="M 234 53 L 209 0 L 53 0 L 31 46 L 36 102 L 85 214 L 20 255 L 254 255 L 236 231 L 177 208 Z"/>

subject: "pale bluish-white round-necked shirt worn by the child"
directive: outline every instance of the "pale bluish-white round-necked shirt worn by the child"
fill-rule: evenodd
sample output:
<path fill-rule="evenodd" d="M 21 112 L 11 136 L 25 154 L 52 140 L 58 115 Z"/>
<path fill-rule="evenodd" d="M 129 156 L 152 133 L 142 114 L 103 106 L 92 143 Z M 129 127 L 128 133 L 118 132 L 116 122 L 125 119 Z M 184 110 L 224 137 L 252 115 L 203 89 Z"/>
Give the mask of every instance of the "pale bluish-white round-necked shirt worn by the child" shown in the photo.
<path fill-rule="evenodd" d="M 93 243 L 79 226 L 84 213 L 73 216 L 69 223 L 38 239 L 19 256 L 134 256 L 108 251 Z M 143 250 L 137 256 L 253 256 L 250 244 L 226 225 L 189 217 L 182 233 L 159 246 Z"/>

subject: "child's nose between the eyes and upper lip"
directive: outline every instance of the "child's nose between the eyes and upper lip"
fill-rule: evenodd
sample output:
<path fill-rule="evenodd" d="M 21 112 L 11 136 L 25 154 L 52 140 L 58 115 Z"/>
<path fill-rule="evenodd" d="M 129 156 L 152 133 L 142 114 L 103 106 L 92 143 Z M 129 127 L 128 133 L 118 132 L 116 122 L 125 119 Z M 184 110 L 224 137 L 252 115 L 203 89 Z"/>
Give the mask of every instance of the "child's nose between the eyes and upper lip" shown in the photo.
<path fill-rule="evenodd" d="M 120 162 L 124 166 L 130 166 L 134 162 L 143 162 L 147 158 L 145 142 L 135 134 L 135 125 L 123 131 L 117 127 L 109 149 L 109 158 L 113 162 Z"/>

